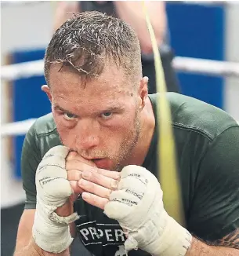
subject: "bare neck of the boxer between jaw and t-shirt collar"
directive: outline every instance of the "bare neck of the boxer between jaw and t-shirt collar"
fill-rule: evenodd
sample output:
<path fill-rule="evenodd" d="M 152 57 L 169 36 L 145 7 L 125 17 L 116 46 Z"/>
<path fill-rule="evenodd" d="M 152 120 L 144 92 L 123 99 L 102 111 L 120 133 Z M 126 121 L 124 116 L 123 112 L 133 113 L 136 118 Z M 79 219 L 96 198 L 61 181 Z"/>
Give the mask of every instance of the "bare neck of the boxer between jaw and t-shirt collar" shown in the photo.
<path fill-rule="evenodd" d="M 153 107 L 149 97 L 147 97 L 145 107 L 139 115 L 141 123 L 139 141 L 137 142 L 136 147 L 132 151 L 129 163 L 127 163 L 128 165 L 133 164 L 141 166 L 150 148 L 150 143 L 154 135 L 155 118 Z"/>

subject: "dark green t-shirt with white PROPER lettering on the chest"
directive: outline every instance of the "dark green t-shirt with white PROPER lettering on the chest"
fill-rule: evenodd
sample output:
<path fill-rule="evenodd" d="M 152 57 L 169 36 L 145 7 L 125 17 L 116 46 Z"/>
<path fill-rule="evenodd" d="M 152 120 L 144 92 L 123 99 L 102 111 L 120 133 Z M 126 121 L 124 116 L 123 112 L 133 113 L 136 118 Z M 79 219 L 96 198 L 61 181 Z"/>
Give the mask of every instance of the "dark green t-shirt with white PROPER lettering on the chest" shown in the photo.
<path fill-rule="evenodd" d="M 156 97 L 150 95 L 156 114 Z M 186 229 L 202 240 L 217 240 L 239 228 L 239 126 L 226 112 L 178 93 L 167 93 L 172 110 Z M 156 120 L 156 125 L 157 120 Z M 143 166 L 157 175 L 158 134 Z M 39 118 L 28 131 L 22 152 L 25 208 L 35 208 L 35 171 L 43 155 L 61 144 L 53 115 Z M 117 221 L 79 197 L 74 209 L 79 237 L 95 255 L 121 254 L 125 236 Z M 150 235 L 150 234 L 149 234 Z M 132 251 L 131 255 L 143 255 Z"/>

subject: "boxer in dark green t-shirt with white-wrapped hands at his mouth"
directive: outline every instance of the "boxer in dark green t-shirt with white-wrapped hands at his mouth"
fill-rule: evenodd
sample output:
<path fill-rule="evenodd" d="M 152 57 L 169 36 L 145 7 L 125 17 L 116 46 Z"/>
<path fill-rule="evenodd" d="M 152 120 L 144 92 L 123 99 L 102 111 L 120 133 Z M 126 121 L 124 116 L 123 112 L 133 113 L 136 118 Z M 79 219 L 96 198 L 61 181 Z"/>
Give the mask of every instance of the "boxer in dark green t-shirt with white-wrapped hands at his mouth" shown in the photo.
<path fill-rule="evenodd" d="M 168 216 L 154 176 L 158 95 L 147 94 L 132 28 L 97 12 L 67 20 L 46 50 L 45 79 L 52 114 L 24 141 L 27 200 L 15 256 L 70 255 L 76 233 L 100 256 L 239 255 L 234 119 L 168 93 L 183 227 Z"/>

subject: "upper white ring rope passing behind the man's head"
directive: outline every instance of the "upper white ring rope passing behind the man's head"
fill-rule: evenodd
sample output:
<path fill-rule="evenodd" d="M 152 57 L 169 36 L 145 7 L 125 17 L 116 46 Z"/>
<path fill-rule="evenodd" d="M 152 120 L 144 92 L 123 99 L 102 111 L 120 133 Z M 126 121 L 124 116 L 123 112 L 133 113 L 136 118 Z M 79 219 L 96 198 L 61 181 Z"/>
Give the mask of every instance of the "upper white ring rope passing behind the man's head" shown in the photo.
<path fill-rule="evenodd" d="M 201 75 L 239 77 L 239 63 L 237 62 L 204 60 L 190 57 L 175 57 L 172 65 L 177 71 Z M 1 79 L 11 81 L 14 79 L 27 79 L 32 76 L 43 75 L 43 68 L 43 60 L 5 65 L 1 67 Z"/>

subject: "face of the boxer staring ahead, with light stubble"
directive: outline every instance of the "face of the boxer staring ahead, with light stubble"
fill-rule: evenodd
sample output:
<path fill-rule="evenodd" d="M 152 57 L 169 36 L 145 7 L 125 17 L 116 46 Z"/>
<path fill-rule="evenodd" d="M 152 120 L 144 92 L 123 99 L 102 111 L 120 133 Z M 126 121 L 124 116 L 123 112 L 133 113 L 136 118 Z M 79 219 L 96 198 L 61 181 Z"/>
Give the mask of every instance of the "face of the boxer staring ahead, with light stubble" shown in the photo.
<path fill-rule="evenodd" d="M 139 140 L 147 82 L 139 79 L 133 87 L 111 65 L 82 85 L 78 73 L 59 69 L 50 69 L 50 90 L 45 92 L 61 141 L 100 168 L 121 170 Z"/>

